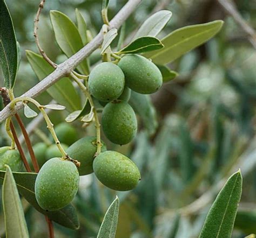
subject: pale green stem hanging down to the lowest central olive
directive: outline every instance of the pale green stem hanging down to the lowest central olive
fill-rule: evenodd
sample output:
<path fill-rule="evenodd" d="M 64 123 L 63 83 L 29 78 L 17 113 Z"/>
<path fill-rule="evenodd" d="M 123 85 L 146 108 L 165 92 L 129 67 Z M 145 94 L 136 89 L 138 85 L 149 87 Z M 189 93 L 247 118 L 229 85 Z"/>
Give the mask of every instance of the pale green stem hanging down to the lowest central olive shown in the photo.
<path fill-rule="evenodd" d="M 100 123 L 99 118 L 97 115 L 97 109 L 94 106 L 91 94 L 88 92 L 87 88 L 84 86 L 84 84 L 77 78 L 77 76 L 73 73 L 70 74 L 72 79 L 77 83 L 79 88 L 83 91 L 84 95 L 87 97 L 91 107 L 93 108 L 93 117 L 95 118 L 95 127 L 96 127 L 96 141 L 97 141 L 97 151 L 96 156 L 100 153 L 100 148 L 102 146 L 102 143 L 100 142 Z"/>

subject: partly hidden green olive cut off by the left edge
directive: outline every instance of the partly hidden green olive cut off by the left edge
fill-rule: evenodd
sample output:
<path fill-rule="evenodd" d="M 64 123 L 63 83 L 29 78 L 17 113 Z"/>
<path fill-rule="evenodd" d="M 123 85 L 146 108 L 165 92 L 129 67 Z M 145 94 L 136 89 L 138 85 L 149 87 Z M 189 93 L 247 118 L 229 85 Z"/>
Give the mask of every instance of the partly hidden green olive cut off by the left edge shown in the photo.
<path fill-rule="evenodd" d="M 6 170 L 5 164 L 9 165 L 14 172 L 23 170 L 23 162 L 18 150 L 11 149 L 9 146 L 0 148 L 0 170 Z"/>

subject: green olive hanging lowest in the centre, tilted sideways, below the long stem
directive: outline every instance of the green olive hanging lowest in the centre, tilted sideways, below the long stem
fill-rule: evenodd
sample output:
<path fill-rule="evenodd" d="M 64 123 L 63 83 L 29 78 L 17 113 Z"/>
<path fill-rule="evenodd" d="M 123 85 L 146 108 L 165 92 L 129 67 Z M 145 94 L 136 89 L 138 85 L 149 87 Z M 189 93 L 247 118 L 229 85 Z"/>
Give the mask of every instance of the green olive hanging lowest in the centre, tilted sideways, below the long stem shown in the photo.
<path fill-rule="evenodd" d="M 116 151 L 100 153 L 93 161 L 93 171 L 102 184 L 117 191 L 132 190 L 140 180 L 136 164 Z"/>

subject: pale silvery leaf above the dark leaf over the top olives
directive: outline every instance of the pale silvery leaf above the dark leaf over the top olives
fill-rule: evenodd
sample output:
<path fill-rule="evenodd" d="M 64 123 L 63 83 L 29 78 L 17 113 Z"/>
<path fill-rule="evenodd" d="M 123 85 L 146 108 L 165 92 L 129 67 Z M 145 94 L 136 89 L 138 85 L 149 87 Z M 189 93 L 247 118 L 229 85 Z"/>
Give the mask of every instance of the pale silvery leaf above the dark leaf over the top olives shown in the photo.
<path fill-rule="evenodd" d="M 154 13 L 150 18 L 140 26 L 138 32 L 135 34 L 134 39 L 144 36 L 156 37 L 158 33 L 165 27 L 172 16 L 172 12 L 168 10 L 161 10 Z"/>

